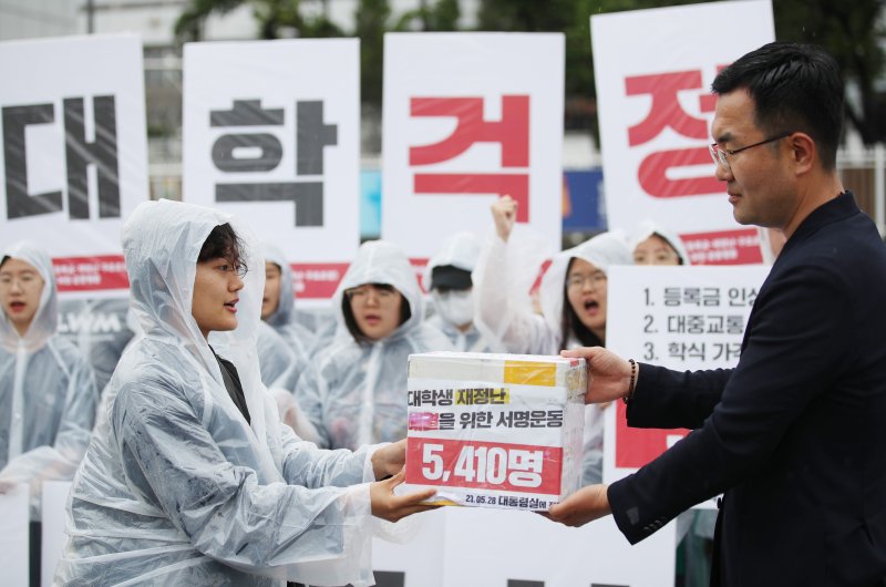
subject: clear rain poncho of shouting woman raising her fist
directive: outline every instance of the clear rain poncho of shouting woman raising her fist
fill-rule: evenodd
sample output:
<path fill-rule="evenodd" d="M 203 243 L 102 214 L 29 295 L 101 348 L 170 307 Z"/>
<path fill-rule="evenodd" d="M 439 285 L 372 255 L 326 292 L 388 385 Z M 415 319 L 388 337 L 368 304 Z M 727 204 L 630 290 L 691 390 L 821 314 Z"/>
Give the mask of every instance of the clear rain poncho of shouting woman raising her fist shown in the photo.
<path fill-rule="evenodd" d="M 515 262 L 519 258 L 514 255 L 516 251 L 507 250 L 509 245 L 509 241 L 505 243 L 495 236 L 484 247 L 474 271 L 477 326 L 491 340 L 504 346 L 507 352 L 521 354 L 558 354 L 563 349 L 581 347 L 574 336 L 569 340 L 562 340 L 563 305 L 568 303 L 564 295 L 564 284 L 569 259 L 584 259 L 605 274 L 609 272 L 612 265 L 631 265 L 633 260 L 624 235 L 616 230 L 602 233 L 558 253 L 542 278 L 543 316 L 538 316 L 514 303 L 508 299 L 506 290 L 499 287 L 499 284 L 507 284 L 513 279 L 508 276 L 509 272 L 519 271 L 521 268 Z M 597 404 L 587 405 L 583 485 L 601 481 L 602 425 L 602 410 Z"/>

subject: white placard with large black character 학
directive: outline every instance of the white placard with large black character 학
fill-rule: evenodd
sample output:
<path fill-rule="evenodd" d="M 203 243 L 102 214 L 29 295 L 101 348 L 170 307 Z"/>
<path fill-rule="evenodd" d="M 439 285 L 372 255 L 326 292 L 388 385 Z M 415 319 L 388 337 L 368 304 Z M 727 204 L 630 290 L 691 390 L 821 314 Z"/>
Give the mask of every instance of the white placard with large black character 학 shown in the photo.
<path fill-rule="evenodd" d="M 328 299 L 360 245 L 359 40 L 188 43 L 183 199 L 236 214 Z"/>

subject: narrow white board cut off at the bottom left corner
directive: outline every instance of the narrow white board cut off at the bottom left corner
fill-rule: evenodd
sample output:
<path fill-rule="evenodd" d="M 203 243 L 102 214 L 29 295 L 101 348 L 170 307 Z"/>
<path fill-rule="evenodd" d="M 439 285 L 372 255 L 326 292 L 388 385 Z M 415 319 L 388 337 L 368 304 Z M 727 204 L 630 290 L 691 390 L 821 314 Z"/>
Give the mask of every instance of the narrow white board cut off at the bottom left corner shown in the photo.
<path fill-rule="evenodd" d="M 28 585 L 29 487 L 0 494 L 0 568 L 4 585 Z"/>

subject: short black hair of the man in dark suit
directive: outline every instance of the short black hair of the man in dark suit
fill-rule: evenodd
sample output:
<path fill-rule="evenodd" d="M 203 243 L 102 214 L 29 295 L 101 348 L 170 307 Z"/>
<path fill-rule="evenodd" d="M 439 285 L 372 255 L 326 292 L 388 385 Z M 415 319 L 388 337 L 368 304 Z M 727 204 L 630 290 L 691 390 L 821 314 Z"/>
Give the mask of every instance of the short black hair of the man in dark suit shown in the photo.
<path fill-rule="evenodd" d="M 765 44 L 721 71 L 711 89 L 717 94 L 746 90 L 754 101 L 754 122 L 767 136 L 806 133 L 815 141 L 822 166 L 836 166 L 843 131 L 843 79 L 837 62 L 823 49 Z"/>

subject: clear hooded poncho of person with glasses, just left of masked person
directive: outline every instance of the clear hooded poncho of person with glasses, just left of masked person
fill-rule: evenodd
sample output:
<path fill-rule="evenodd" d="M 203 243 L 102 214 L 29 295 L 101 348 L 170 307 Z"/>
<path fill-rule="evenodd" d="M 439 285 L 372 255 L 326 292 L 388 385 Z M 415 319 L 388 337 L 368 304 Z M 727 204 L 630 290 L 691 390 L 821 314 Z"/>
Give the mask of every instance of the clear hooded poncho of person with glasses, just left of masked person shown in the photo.
<path fill-rule="evenodd" d="M 344 290 L 364 284 L 393 286 L 411 310 L 388 338 L 358 342 L 344 327 Z M 301 375 L 296 399 L 322 442 L 353 447 L 406 435 L 406 369 L 413 352 L 452 350 L 440 330 L 423 321 L 424 305 L 415 270 L 392 243 L 364 243 L 332 297 L 339 328 Z"/>

